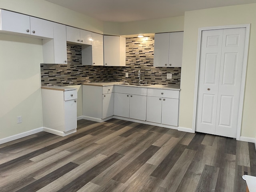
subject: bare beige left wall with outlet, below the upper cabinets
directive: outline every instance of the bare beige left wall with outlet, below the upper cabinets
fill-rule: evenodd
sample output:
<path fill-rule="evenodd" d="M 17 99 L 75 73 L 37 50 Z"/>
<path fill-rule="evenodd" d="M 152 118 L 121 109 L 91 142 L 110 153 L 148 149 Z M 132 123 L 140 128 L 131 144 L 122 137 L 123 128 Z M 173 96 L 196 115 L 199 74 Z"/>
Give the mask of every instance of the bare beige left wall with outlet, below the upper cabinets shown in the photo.
<path fill-rule="evenodd" d="M 41 128 L 42 40 L 0 34 L 0 58 L 0 139 Z"/>

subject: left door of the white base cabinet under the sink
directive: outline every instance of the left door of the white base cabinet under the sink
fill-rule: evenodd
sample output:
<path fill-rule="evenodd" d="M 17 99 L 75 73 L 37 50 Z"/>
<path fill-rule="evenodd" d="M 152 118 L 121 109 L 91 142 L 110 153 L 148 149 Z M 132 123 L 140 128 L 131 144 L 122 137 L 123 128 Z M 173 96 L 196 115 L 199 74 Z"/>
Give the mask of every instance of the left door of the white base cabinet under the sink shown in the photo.
<path fill-rule="evenodd" d="M 115 93 L 114 97 L 114 115 L 129 118 L 130 95 Z"/>

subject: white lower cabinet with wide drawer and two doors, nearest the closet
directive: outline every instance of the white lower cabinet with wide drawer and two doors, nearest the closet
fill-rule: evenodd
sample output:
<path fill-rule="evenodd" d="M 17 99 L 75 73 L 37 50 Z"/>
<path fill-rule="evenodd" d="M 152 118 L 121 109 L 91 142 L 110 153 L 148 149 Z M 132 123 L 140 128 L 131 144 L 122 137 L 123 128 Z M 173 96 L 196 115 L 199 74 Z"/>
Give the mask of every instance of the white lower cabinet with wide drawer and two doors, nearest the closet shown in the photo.
<path fill-rule="evenodd" d="M 178 126 L 178 110 L 179 91 L 148 89 L 146 121 Z"/>

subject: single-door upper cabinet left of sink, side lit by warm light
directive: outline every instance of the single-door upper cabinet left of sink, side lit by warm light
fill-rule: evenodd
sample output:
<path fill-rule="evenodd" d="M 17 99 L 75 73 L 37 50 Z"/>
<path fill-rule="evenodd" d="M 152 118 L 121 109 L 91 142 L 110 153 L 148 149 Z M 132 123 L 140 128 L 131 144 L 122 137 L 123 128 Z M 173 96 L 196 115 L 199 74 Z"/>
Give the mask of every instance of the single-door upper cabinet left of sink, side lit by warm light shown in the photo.
<path fill-rule="evenodd" d="M 104 66 L 125 66 L 125 38 L 104 35 Z"/>

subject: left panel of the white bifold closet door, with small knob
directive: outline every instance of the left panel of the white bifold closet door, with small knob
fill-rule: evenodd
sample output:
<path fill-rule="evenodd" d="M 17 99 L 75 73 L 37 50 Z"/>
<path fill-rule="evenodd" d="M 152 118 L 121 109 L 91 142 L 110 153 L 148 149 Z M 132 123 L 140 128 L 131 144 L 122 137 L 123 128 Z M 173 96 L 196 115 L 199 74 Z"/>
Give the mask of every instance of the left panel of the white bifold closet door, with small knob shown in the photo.
<path fill-rule="evenodd" d="M 202 32 L 196 131 L 215 134 L 223 30 Z"/>

